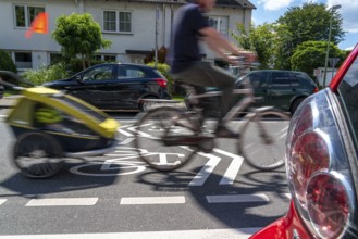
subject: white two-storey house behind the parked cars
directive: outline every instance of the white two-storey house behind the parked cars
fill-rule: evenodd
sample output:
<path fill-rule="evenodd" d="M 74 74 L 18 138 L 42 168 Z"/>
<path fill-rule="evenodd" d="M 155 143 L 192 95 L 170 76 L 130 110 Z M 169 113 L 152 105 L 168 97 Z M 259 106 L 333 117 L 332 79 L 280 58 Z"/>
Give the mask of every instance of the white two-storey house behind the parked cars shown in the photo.
<path fill-rule="evenodd" d="M 99 50 L 102 60 L 143 63 L 156 46 L 170 47 L 175 11 L 184 0 L 1 0 L 0 49 L 8 51 L 18 71 L 49 65 L 61 54 L 61 47 L 51 37 L 55 20 L 71 13 L 90 13 L 102 29 L 110 49 Z M 218 0 L 208 14 L 211 26 L 226 38 L 236 29 L 236 23 L 247 28 L 256 7 L 248 0 Z M 49 34 L 25 37 L 38 12 L 49 14 Z M 207 49 L 206 56 L 212 59 Z"/>

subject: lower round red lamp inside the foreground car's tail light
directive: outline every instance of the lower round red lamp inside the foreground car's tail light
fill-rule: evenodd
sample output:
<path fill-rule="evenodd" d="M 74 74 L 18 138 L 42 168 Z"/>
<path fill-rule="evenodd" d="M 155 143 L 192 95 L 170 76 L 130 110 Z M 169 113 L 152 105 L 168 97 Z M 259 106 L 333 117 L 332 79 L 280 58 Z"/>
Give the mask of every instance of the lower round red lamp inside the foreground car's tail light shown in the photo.
<path fill-rule="evenodd" d="M 338 238 L 349 218 L 349 185 L 340 174 L 320 172 L 307 186 L 310 221 L 322 238 Z"/>

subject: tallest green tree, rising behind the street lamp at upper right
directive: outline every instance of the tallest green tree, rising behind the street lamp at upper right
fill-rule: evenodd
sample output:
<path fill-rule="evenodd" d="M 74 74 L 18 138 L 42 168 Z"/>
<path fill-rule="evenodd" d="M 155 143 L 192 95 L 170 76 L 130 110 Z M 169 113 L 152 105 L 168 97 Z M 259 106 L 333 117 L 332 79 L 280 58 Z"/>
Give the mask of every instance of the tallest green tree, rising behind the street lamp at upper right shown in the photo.
<path fill-rule="evenodd" d="M 303 7 L 289 8 L 276 23 L 280 25 L 280 38 L 276 64 L 280 68 L 291 68 L 291 56 L 298 45 L 305 41 L 326 41 L 329 39 L 332 16 L 331 41 L 337 45 L 345 33 L 342 28 L 342 16 L 328 9 L 324 3 L 304 3 Z"/>

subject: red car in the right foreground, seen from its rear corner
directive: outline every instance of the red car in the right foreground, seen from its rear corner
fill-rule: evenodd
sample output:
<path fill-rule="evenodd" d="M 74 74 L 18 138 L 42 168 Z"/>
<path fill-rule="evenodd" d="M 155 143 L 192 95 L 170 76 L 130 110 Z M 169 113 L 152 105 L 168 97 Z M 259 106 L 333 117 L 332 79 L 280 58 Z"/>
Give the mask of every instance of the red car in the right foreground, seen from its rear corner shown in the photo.
<path fill-rule="evenodd" d="M 294 114 L 286 142 L 288 212 L 251 239 L 358 238 L 357 155 L 358 45 L 330 87 Z"/>

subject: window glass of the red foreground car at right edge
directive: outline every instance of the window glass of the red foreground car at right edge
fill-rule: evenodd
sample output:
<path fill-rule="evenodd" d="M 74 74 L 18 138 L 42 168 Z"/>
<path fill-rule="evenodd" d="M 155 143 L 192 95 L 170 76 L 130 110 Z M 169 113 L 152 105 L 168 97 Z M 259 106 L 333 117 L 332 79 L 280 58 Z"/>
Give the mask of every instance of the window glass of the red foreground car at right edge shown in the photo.
<path fill-rule="evenodd" d="M 351 64 L 338 86 L 341 102 L 348 116 L 348 123 L 354 131 L 354 139 L 358 146 L 358 59 Z"/>

